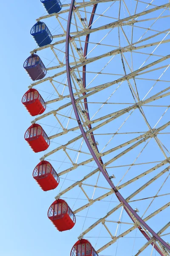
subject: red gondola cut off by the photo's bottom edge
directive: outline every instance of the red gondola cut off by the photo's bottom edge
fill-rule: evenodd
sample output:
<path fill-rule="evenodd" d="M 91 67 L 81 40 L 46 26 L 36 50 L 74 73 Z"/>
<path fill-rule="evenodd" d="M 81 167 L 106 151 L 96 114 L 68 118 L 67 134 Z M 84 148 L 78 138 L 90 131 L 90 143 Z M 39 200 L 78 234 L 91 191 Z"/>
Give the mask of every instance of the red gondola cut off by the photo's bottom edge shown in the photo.
<path fill-rule="evenodd" d="M 81 239 L 74 244 L 70 256 L 98 256 L 98 254 L 88 240 Z"/>

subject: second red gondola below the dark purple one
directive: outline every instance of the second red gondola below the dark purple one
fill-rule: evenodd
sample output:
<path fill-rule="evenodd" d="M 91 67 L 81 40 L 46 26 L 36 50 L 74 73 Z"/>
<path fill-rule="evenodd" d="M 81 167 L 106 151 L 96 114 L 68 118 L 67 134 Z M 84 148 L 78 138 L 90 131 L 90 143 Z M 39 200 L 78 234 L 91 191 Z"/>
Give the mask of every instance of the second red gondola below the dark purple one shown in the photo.
<path fill-rule="evenodd" d="M 38 124 L 31 125 L 28 128 L 25 133 L 25 140 L 35 153 L 46 150 L 50 145 L 47 134 Z"/>

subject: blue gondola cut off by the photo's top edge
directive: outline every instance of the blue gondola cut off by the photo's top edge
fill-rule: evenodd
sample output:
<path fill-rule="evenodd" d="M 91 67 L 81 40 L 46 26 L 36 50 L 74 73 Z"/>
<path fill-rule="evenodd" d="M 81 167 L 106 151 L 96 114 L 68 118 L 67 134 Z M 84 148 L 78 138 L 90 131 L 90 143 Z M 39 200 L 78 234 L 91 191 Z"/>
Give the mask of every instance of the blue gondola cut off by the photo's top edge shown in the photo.
<path fill-rule="evenodd" d="M 62 9 L 62 4 L 59 0 L 41 0 L 48 14 L 59 12 Z"/>

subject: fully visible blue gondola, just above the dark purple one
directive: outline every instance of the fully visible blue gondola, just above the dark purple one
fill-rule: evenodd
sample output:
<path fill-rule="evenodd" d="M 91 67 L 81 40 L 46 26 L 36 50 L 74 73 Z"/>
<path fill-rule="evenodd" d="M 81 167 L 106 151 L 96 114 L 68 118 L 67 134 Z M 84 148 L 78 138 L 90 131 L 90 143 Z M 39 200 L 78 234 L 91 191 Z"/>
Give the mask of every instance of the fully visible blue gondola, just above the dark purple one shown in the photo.
<path fill-rule="evenodd" d="M 33 36 L 34 40 L 38 44 L 38 46 L 45 46 L 47 44 L 51 44 L 53 37 L 51 32 L 49 31 L 48 27 L 45 23 L 39 21 L 31 28 L 31 35 Z"/>

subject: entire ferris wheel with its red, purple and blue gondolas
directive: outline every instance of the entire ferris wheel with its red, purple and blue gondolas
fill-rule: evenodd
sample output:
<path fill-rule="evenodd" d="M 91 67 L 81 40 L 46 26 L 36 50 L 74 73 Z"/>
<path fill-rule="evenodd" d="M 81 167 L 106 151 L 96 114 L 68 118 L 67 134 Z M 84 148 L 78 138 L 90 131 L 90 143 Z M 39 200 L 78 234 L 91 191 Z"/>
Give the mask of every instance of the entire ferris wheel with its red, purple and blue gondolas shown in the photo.
<path fill-rule="evenodd" d="M 40 2 L 22 103 L 49 220 L 79 226 L 71 256 L 170 255 L 169 0 Z"/>

